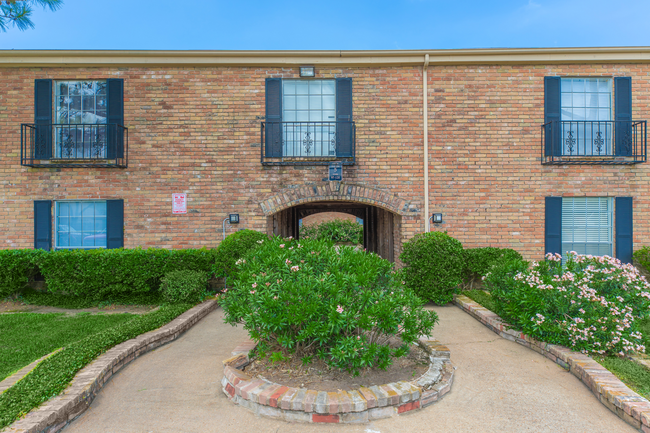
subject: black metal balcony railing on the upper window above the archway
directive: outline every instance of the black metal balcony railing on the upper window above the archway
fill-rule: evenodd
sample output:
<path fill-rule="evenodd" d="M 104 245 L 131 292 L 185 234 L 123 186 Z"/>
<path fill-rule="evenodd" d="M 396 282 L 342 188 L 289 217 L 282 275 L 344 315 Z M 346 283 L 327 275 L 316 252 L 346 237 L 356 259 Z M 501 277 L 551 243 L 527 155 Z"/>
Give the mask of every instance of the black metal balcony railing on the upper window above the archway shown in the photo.
<path fill-rule="evenodd" d="M 264 165 L 327 165 L 355 163 L 353 121 L 262 122 L 261 161 Z"/>

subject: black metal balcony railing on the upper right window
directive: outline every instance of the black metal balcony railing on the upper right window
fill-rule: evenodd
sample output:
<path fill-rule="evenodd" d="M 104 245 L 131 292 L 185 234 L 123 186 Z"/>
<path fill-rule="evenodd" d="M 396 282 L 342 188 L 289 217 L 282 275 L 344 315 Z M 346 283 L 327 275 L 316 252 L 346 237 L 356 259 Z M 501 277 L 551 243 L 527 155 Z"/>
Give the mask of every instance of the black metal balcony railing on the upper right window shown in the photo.
<path fill-rule="evenodd" d="M 638 164 L 647 160 L 645 120 L 542 125 L 542 164 Z"/>

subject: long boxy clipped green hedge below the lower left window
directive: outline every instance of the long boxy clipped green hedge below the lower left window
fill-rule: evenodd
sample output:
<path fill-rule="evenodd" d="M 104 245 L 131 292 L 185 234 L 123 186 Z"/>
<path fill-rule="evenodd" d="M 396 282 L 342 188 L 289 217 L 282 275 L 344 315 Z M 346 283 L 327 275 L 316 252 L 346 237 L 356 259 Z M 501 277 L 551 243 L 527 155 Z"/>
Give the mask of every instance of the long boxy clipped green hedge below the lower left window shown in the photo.
<path fill-rule="evenodd" d="M 171 271 L 209 274 L 214 257 L 215 250 L 207 248 L 55 250 L 39 255 L 36 263 L 48 291 L 97 300 L 158 291 Z"/>

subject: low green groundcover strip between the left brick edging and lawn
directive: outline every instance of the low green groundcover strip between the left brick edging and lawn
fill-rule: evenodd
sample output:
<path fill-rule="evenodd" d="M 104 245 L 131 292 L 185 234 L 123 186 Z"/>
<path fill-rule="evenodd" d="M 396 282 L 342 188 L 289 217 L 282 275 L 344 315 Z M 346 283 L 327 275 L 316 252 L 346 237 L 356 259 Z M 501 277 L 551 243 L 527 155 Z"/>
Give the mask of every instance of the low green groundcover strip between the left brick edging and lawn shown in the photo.
<path fill-rule="evenodd" d="M 169 305 L 64 347 L 0 394 L 0 429 L 59 395 L 77 372 L 113 346 L 160 328 L 191 304 Z"/>

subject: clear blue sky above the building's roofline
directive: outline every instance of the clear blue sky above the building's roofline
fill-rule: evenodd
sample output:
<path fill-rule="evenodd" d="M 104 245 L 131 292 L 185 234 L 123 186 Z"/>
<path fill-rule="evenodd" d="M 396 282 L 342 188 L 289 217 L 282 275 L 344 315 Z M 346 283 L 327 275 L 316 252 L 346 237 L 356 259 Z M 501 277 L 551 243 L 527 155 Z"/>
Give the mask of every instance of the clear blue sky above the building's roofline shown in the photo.
<path fill-rule="evenodd" d="M 398 50 L 650 45 L 650 1 L 64 0 L 0 49 Z"/>

